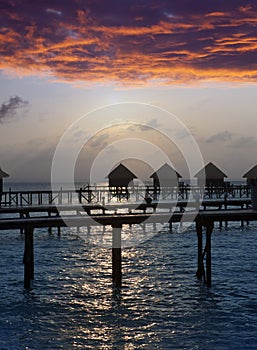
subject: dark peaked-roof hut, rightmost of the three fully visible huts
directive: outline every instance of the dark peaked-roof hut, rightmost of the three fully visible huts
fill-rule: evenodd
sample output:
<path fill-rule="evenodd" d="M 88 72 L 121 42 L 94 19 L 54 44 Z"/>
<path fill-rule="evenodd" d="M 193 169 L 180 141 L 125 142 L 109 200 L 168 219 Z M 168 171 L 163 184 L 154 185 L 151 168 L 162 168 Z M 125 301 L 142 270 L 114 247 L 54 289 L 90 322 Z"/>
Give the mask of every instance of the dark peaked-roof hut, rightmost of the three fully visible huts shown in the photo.
<path fill-rule="evenodd" d="M 224 186 L 224 178 L 227 177 L 223 171 L 221 171 L 212 162 L 205 165 L 203 169 L 195 174 L 198 181 L 198 186 Z"/>

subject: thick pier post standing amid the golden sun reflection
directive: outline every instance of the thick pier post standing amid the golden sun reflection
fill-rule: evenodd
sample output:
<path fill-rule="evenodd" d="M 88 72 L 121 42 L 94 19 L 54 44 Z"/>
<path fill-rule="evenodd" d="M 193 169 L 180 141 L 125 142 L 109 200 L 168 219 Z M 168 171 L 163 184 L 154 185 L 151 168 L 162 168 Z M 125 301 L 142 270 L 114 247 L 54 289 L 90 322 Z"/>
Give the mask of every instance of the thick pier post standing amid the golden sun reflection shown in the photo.
<path fill-rule="evenodd" d="M 121 288 L 121 229 L 122 225 L 112 226 L 112 283 L 116 288 Z"/>

